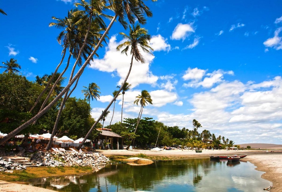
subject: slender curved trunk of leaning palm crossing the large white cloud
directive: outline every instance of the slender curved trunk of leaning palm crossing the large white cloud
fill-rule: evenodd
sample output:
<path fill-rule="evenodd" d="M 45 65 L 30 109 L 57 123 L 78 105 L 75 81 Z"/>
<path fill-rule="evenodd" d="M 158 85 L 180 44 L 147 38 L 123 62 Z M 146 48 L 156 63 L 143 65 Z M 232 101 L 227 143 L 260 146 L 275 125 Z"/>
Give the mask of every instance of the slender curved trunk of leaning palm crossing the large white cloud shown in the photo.
<path fill-rule="evenodd" d="M 116 16 L 115 18 L 116 19 Z M 98 122 L 103 118 L 103 116 L 105 115 L 105 113 L 107 112 L 107 110 L 111 107 L 111 105 L 113 104 L 113 102 L 116 100 L 116 98 L 119 96 L 119 93 L 120 91 L 122 90 L 122 87 L 124 86 L 125 82 L 127 81 L 128 77 L 129 77 L 129 74 L 131 72 L 131 68 L 132 68 L 132 63 L 133 63 L 133 58 L 134 58 L 134 55 L 132 55 L 131 57 L 131 63 L 130 63 L 130 67 L 129 67 L 129 70 L 128 70 L 128 73 L 119 89 L 119 91 L 117 92 L 116 96 L 112 99 L 112 101 L 110 101 L 110 103 L 108 104 L 108 106 L 105 108 L 104 112 L 100 115 L 100 117 L 96 120 L 96 122 L 92 125 L 92 127 L 90 128 L 90 130 L 88 131 L 88 133 L 85 135 L 84 139 L 82 140 L 82 142 L 80 143 L 80 145 L 78 146 L 78 150 L 82 147 L 83 143 L 86 141 L 86 139 L 90 136 L 92 130 L 96 127 L 96 125 L 98 124 Z M 0 143 L 1 144 L 1 143 Z"/>

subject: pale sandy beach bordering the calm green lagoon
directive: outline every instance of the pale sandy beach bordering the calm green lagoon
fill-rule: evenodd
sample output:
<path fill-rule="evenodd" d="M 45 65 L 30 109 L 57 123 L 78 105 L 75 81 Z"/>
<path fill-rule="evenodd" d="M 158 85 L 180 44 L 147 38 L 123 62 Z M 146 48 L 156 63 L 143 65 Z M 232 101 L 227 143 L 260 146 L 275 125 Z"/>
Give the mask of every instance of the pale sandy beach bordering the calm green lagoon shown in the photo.
<path fill-rule="evenodd" d="M 282 164 L 280 158 L 282 157 L 281 150 L 271 150 L 273 152 L 266 152 L 266 150 L 203 150 L 202 153 L 196 153 L 192 150 L 163 150 L 163 151 L 150 151 L 150 150 L 98 150 L 106 157 L 113 156 L 137 156 L 140 153 L 146 156 L 166 157 L 168 159 L 191 159 L 191 158 L 209 158 L 210 155 L 240 155 L 247 154 L 247 157 L 242 161 L 249 161 L 254 164 L 256 170 L 263 171 L 262 178 L 272 182 L 271 191 L 282 191 Z M 265 188 L 268 186 L 265 186 Z M 37 191 L 38 187 L 34 188 L 31 185 L 15 184 L 5 181 L 0 181 L 0 191 Z M 42 192 L 51 192 L 53 190 L 39 189 Z"/>

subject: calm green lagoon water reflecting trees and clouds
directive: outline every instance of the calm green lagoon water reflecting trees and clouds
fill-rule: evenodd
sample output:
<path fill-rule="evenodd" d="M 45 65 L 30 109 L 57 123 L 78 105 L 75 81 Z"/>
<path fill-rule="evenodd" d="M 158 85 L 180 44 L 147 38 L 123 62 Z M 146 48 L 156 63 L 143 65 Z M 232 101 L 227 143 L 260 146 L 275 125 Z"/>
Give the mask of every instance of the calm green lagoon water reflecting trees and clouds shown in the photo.
<path fill-rule="evenodd" d="M 261 179 L 264 172 L 255 168 L 244 161 L 157 161 L 146 166 L 113 164 L 88 175 L 40 178 L 29 182 L 58 191 L 264 191 L 263 188 L 271 182 Z"/>

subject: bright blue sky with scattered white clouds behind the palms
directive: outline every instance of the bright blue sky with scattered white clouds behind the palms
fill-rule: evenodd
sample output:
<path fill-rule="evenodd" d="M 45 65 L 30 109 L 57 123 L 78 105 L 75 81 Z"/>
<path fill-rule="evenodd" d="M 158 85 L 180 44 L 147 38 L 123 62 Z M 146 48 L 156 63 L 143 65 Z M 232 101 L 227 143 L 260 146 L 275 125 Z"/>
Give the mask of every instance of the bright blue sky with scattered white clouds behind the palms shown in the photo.
<path fill-rule="evenodd" d="M 74 8 L 72 0 L 0 1 L 1 62 L 17 59 L 29 80 L 51 73 L 61 59 L 56 37 L 49 27 L 52 16 L 63 18 Z M 124 118 L 137 118 L 134 105 L 141 90 L 150 92 L 153 105 L 143 117 L 168 126 L 192 128 L 196 119 L 203 129 L 235 144 L 282 144 L 282 1 L 146 1 L 153 17 L 144 25 L 152 35 L 153 55 L 145 64 L 134 62 L 125 94 Z M 107 21 L 108 22 L 108 21 Z M 73 96 L 83 98 L 82 86 L 101 88 L 91 101 L 97 118 L 128 71 L 130 57 L 116 52 L 125 30 L 116 22 L 107 45 L 98 51 L 79 80 Z M 71 61 L 74 63 L 74 61 Z M 61 69 L 62 71 L 62 69 Z M 67 73 L 68 77 L 69 71 Z M 113 122 L 120 121 L 116 102 Z M 105 125 L 110 123 L 110 115 Z"/>

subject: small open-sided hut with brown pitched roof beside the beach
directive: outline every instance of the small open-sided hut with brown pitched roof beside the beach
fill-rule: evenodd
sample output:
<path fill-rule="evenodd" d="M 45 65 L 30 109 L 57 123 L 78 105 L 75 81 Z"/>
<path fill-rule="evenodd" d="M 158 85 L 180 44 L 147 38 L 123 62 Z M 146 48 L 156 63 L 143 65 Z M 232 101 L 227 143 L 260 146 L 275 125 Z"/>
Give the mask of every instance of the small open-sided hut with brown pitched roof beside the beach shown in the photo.
<path fill-rule="evenodd" d="M 117 133 L 112 132 L 111 129 L 99 128 L 99 133 L 95 141 L 95 149 L 123 149 L 123 138 Z"/>

